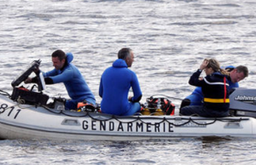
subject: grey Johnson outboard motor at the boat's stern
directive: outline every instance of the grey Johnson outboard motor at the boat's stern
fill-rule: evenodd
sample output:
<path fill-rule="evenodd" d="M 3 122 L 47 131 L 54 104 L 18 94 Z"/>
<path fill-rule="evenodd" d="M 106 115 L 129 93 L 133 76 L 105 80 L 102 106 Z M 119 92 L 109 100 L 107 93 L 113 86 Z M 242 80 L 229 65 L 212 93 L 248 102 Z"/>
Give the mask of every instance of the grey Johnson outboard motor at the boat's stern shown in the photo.
<path fill-rule="evenodd" d="M 230 114 L 256 117 L 256 88 L 235 88 L 230 94 Z"/>

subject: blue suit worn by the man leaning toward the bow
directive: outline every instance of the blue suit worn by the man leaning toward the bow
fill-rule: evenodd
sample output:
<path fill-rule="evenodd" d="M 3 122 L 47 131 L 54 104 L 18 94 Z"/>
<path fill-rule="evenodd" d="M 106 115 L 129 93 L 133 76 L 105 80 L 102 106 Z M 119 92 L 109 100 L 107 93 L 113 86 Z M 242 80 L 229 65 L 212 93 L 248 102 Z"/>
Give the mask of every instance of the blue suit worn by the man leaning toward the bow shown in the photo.
<path fill-rule="evenodd" d="M 66 64 L 61 70 L 52 70 L 43 73 L 44 77 L 49 77 L 53 83 L 64 83 L 67 88 L 67 94 L 72 100 L 67 100 L 65 107 L 67 110 L 77 109 L 77 104 L 86 100 L 87 102 L 96 105 L 94 95 L 91 93 L 90 88 L 84 80 L 79 69 L 71 64 L 73 54 L 68 53 Z"/>

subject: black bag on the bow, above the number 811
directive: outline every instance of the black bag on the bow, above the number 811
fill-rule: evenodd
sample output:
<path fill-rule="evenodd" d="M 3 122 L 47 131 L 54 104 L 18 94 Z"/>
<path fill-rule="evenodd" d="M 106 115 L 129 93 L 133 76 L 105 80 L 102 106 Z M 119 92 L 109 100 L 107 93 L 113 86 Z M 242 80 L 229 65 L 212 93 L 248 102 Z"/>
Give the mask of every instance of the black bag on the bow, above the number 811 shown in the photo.
<path fill-rule="evenodd" d="M 30 91 L 24 87 L 15 87 L 13 94 L 11 95 L 11 100 L 18 101 L 21 104 L 46 105 L 47 101 L 49 100 L 49 96 L 46 94 Z"/>

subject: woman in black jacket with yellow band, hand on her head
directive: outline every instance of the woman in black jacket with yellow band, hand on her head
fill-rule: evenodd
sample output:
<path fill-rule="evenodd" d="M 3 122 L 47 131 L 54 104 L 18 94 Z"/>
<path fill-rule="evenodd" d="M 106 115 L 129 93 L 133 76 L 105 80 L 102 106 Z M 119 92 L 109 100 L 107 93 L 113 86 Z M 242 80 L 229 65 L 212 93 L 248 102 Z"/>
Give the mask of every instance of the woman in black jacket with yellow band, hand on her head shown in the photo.
<path fill-rule="evenodd" d="M 207 77 L 200 77 L 201 71 Z M 204 96 L 203 105 L 184 106 L 180 114 L 183 116 L 227 117 L 230 107 L 228 73 L 220 68 L 218 60 L 204 60 L 200 69 L 189 79 L 189 84 L 201 87 Z"/>

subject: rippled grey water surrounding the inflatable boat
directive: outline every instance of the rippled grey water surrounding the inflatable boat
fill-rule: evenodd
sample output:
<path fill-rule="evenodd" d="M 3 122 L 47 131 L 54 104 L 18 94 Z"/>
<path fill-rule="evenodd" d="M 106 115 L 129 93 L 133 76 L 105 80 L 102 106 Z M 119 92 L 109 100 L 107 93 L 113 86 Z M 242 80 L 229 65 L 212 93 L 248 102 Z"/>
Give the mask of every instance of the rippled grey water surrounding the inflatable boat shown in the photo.
<path fill-rule="evenodd" d="M 53 68 L 55 49 L 72 52 L 100 103 L 102 72 L 120 48 L 132 48 L 143 91 L 181 99 L 205 58 L 247 65 L 241 88 L 255 88 L 254 0 L 0 0 L 0 89 L 33 60 Z M 27 85 L 26 85 L 27 86 Z M 62 84 L 50 96 L 68 97 Z M 1 140 L 0 164 L 256 164 L 255 139 L 195 138 L 140 141 Z"/>

